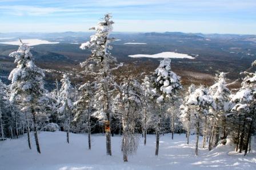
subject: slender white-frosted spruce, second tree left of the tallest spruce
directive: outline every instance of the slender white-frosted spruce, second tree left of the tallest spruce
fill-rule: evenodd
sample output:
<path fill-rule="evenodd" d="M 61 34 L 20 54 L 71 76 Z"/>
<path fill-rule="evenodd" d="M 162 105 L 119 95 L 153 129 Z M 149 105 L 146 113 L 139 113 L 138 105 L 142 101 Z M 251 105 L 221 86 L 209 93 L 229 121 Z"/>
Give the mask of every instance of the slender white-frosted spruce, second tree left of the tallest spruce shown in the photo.
<path fill-rule="evenodd" d="M 59 100 L 61 103 L 58 112 L 61 114 L 60 118 L 63 120 L 62 122 L 64 122 L 63 127 L 67 132 L 67 143 L 69 143 L 70 121 L 73 109 L 73 102 L 71 100 L 73 88 L 67 74 L 63 74 L 61 83 L 61 89 L 59 90 Z"/>

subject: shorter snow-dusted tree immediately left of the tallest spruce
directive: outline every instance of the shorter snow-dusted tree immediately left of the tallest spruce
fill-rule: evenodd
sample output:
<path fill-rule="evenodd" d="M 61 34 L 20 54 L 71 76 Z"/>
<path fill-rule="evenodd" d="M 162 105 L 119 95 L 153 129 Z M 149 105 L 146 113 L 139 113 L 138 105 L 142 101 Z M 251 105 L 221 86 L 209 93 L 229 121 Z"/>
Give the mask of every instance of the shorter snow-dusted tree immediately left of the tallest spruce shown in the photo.
<path fill-rule="evenodd" d="M 93 91 L 91 89 L 91 82 L 88 81 L 81 85 L 78 89 L 81 94 L 76 102 L 75 106 L 75 117 L 73 122 L 84 121 L 87 122 L 87 133 L 88 133 L 88 147 L 91 149 L 91 114 L 93 106 Z M 82 120 L 85 119 L 86 120 Z"/>

